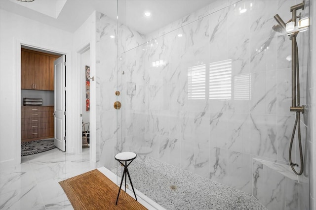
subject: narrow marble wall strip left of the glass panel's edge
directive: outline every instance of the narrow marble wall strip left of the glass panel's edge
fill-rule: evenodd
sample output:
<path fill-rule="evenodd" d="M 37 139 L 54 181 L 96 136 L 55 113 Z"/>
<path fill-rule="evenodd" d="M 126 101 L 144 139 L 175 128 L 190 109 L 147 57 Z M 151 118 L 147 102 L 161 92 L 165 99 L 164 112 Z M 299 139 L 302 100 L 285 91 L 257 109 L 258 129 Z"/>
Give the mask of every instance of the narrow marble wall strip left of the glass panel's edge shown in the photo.
<path fill-rule="evenodd" d="M 96 160 L 97 166 L 111 168 L 115 164 L 117 113 L 117 23 L 106 15 L 96 13 Z"/>

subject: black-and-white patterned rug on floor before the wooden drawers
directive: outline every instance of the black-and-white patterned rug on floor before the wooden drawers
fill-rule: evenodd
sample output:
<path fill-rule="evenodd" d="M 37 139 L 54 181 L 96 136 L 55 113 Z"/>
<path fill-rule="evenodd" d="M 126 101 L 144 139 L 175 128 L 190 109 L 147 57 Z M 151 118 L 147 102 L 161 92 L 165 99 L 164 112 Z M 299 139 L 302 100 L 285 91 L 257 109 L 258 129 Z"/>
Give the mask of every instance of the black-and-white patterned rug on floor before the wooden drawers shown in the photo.
<path fill-rule="evenodd" d="M 22 142 L 21 156 L 36 154 L 56 148 L 53 139 L 44 139 L 32 142 Z"/>

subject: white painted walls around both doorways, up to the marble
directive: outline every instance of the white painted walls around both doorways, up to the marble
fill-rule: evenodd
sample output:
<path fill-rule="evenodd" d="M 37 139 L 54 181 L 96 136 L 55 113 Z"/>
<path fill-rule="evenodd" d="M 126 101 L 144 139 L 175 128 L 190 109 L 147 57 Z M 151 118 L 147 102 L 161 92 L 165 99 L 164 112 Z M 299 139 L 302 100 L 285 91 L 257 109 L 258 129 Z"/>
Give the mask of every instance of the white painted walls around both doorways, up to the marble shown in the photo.
<path fill-rule="evenodd" d="M 90 46 L 90 60 L 96 60 L 93 53 L 95 50 L 92 50 L 95 49 L 95 31 L 95 12 L 78 30 L 71 33 L 0 10 L 0 163 L 21 161 L 21 44 L 66 55 L 66 150 L 70 153 L 79 152 L 80 54 L 84 48 Z M 95 62 L 92 62 L 92 74 L 95 72 L 94 66 Z M 90 155 L 93 156 L 93 152 Z M 90 159 L 95 160 L 95 157 Z"/>

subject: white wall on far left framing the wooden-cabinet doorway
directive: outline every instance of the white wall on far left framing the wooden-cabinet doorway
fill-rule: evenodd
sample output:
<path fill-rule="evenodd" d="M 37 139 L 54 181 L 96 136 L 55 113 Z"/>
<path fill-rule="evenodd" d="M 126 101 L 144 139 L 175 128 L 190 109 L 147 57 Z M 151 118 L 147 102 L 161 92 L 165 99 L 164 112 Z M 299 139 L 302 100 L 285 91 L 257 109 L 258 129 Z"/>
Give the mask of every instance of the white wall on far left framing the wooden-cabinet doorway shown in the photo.
<path fill-rule="evenodd" d="M 21 161 L 20 44 L 66 54 L 67 85 L 72 79 L 73 34 L 0 10 L 0 162 Z M 71 92 L 67 91 L 68 101 Z M 69 109 L 67 104 L 66 109 Z M 71 113 L 69 118 L 72 118 Z M 66 126 L 69 126 L 69 121 Z M 70 131 L 70 130 L 68 130 Z M 67 131 L 67 132 L 68 132 Z M 69 145 L 71 145 L 71 139 Z M 67 145 L 68 147 L 68 145 Z"/>

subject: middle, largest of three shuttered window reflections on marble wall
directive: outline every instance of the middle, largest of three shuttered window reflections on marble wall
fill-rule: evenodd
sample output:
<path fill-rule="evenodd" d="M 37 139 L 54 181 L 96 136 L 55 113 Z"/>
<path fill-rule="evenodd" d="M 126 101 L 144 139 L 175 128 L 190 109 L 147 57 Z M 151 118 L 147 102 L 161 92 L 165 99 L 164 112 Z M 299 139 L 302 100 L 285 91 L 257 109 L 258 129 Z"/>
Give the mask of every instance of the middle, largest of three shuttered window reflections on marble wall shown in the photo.
<path fill-rule="evenodd" d="M 232 98 L 232 60 L 209 64 L 209 99 Z"/>

